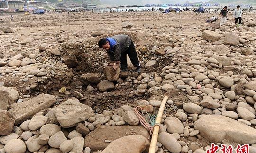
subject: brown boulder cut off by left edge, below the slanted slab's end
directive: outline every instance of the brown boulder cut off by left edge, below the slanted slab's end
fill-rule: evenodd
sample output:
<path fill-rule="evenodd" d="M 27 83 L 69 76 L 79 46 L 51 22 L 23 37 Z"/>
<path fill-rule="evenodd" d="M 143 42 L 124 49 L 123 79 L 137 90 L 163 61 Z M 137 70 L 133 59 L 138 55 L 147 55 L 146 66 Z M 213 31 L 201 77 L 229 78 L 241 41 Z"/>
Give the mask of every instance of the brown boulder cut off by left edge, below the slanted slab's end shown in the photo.
<path fill-rule="evenodd" d="M 14 126 L 14 117 L 7 110 L 0 110 L 0 135 L 9 135 Z"/>

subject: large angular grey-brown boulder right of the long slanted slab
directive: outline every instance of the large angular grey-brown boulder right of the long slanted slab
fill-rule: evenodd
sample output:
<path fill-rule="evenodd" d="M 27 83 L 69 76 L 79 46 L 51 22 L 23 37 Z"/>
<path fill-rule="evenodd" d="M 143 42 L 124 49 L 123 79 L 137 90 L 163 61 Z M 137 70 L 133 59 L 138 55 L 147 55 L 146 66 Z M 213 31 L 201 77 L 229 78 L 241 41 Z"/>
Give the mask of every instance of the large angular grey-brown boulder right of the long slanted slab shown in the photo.
<path fill-rule="evenodd" d="M 55 116 L 61 127 L 77 126 L 94 115 L 91 107 L 74 100 L 67 100 L 55 109 Z"/>

